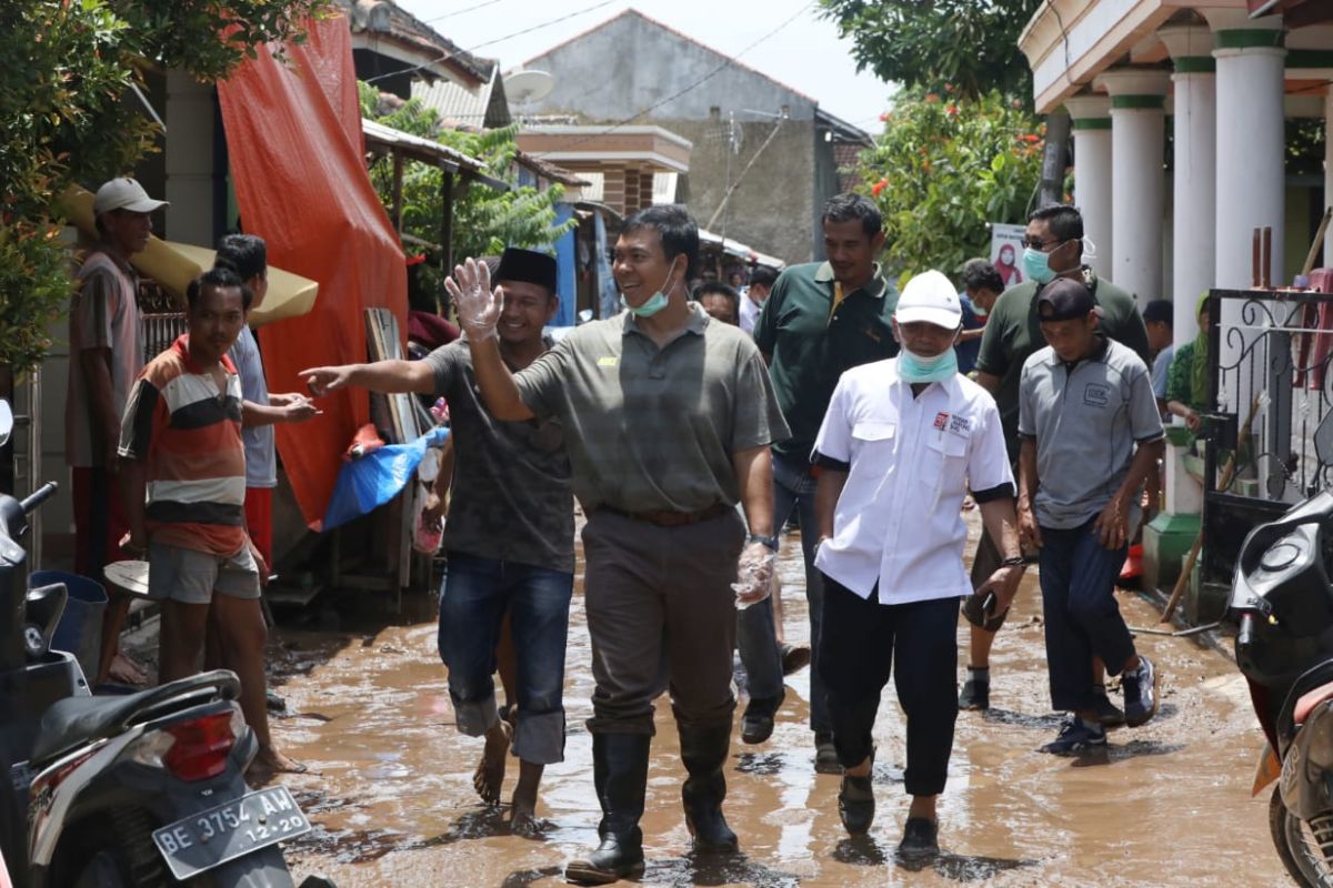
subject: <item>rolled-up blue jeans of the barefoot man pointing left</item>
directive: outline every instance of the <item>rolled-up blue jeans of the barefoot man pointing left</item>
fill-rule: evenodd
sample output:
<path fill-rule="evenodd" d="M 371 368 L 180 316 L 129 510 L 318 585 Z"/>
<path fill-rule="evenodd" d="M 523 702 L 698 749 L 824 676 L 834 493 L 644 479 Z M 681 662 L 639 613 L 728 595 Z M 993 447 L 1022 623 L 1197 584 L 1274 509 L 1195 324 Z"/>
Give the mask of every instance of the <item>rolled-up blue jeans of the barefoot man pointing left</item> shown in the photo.
<path fill-rule="evenodd" d="M 481 736 L 496 724 L 496 642 L 509 611 L 519 666 L 513 754 L 533 764 L 565 758 L 565 640 L 573 574 L 449 553 L 440 588 L 440 659 L 459 730 Z"/>

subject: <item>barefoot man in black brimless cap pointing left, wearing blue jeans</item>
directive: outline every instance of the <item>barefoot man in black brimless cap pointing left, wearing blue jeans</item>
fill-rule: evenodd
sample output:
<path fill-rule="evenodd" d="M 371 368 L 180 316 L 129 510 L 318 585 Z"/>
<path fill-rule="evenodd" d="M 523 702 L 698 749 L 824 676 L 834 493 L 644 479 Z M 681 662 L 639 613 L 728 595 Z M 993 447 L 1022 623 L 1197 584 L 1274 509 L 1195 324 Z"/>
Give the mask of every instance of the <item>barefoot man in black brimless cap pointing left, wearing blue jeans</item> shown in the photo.
<path fill-rule="evenodd" d="M 513 371 L 551 342 L 556 261 L 509 248 L 496 270 L 504 308 L 500 357 Z M 476 780 L 488 803 L 500 797 L 508 726 L 495 682 L 496 642 L 509 612 L 517 651 L 519 715 L 513 751 L 520 760 L 512 825 L 531 831 L 544 766 L 564 760 L 564 666 L 573 592 L 573 497 L 564 430 L 556 421 L 501 422 L 477 394 L 472 355 L 451 342 L 423 361 L 377 361 L 303 370 L 316 395 L 356 385 L 372 391 L 444 395 L 452 421 L 455 471 L 445 522 L 449 571 L 440 592 L 440 656 L 459 728 L 487 738 Z"/>

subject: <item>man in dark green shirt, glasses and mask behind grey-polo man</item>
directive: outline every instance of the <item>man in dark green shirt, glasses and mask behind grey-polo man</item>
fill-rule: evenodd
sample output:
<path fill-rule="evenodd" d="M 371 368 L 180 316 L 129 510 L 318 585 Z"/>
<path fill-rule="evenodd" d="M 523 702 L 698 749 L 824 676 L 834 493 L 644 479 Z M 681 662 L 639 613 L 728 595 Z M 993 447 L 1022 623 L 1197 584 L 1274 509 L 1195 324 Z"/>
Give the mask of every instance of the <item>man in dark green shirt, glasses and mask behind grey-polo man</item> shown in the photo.
<path fill-rule="evenodd" d="M 977 383 L 996 398 L 1009 461 L 1013 463 L 1018 461 L 1018 379 L 1022 365 L 1046 345 L 1041 334 L 1041 318 L 1037 317 L 1037 294 L 1046 284 L 1057 278 L 1082 281 L 1102 312 L 1098 328 L 1109 338 L 1133 349 L 1145 362 L 1150 358 L 1148 330 L 1134 305 L 1134 297 L 1110 281 L 1098 278 L 1082 264 L 1082 216 L 1076 208 L 1054 205 L 1032 213 L 1022 240 L 1022 273 L 1026 280 L 1000 294 L 981 337 Z M 980 587 L 998 564 L 1000 554 L 994 542 L 982 533 L 972 562 L 973 587 Z M 968 607 L 962 610 L 964 614 L 976 612 Z M 960 708 L 989 708 L 990 646 L 1002 624 L 1004 615 L 981 626 L 970 626 L 968 679 L 958 698 Z M 1120 710 L 1106 699 L 1105 688 L 1100 694 L 1098 714 L 1102 715 L 1104 724 L 1120 724 L 1124 720 Z"/>

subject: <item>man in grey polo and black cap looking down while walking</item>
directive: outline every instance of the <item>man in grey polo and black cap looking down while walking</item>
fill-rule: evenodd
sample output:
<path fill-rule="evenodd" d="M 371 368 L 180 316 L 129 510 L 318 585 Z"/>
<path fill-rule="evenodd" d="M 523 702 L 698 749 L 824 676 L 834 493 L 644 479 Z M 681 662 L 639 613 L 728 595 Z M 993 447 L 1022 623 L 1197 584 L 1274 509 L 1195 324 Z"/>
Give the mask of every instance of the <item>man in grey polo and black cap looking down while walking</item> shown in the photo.
<path fill-rule="evenodd" d="M 1041 550 L 1050 699 L 1070 712 L 1042 751 L 1068 755 L 1106 743 L 1093 656 L 1121 674 L 1130 727 L 1157 711 L 1156 671 L 1134 650 L 1113 592 L 1162 423 L 1148 365 L 1100 334 L 1101 309 L 1082 281 L 1053 281 L 1036 308 L 1049 345 L 1018 382 L 1018 535 Z"/>

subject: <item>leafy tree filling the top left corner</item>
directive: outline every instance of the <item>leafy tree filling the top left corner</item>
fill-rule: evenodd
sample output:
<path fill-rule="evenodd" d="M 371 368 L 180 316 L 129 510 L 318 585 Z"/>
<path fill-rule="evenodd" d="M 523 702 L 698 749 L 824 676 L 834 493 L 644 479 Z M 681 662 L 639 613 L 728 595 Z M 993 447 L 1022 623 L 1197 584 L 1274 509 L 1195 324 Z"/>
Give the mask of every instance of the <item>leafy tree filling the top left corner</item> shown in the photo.
<path fill-rule="evenodd" d="M 0 3 L 0 365 L 27 370 L 69 298 L 60 196 L 133 169 L 157 134 L 127 100 L 151 65 L 225 77 L 256 47 L 300 41 L 331 0 Z"/>

